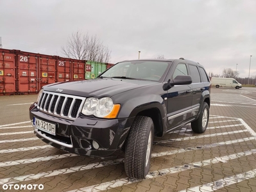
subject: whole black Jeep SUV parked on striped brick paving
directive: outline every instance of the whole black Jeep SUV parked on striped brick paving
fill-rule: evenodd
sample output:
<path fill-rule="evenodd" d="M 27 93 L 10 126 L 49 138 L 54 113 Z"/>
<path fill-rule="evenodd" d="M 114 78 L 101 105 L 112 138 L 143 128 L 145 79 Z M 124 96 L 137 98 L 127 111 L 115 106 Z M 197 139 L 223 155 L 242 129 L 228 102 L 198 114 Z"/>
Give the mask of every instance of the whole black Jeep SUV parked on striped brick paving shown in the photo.
<path fill-rule="evenodd" d="M 131 60 L 97 79 L 49 84 L 30 107 L 35 134 L 54 147 L 92 157 L 124 150 L 128 177 L 149 171 L 153 136 L 191 123 L 205 132 L 210 81 L 193 61 Z"/>

